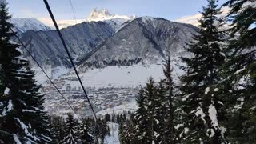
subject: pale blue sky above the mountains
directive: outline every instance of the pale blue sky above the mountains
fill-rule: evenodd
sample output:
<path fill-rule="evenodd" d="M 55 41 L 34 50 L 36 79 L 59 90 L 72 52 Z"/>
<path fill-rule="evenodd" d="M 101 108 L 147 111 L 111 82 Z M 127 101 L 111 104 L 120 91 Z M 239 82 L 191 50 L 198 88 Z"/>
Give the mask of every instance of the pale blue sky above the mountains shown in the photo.
<path fill-rule="evenodd" d="M 71 0 L 76 17 L 85 19 L 94 8 L 106 8 L 112 14 L 162 17 L 169 20 L 198 14 L 206 0 Z M 42 0 L 7 0 L 14 18 L 48 18 Z M 73 19 L 70 0 L 48 0 L 55 17 Z M 226 0 L 219 0 L 219 4 Z"/>

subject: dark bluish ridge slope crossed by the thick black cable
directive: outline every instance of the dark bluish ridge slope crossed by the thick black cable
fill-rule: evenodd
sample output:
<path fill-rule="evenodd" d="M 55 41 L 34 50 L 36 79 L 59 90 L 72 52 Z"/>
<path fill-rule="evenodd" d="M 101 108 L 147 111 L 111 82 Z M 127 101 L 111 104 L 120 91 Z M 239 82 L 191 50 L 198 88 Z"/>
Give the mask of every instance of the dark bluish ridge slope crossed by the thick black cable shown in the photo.
<path fill-rule="evenodd" d="M 62 29 L 61 32 L 71 55 L 76 61 L 83 54 L 94 50 L 94 47 L 114 34 L 115 30 L 106 22 L 83 22 Z M 53 67 L 70 66 L 56 30 L 27 31 L 22 34 L 22 42 L 35 55 L 40 64 Z"/>

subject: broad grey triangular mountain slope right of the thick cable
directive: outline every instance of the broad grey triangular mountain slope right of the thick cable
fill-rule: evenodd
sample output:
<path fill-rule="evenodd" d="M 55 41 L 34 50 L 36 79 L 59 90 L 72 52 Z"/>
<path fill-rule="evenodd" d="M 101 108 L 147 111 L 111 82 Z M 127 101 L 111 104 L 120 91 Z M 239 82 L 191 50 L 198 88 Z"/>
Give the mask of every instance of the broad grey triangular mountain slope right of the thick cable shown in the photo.
<path fill-rule="evenodd" d="M 198 28 L 170 22 L 163 18 L 136 18 L 108 38 L 79 64 L 128 62 L 156 62 L 167 53 L 175 55 L 184 51 L 186 42 Z"/>

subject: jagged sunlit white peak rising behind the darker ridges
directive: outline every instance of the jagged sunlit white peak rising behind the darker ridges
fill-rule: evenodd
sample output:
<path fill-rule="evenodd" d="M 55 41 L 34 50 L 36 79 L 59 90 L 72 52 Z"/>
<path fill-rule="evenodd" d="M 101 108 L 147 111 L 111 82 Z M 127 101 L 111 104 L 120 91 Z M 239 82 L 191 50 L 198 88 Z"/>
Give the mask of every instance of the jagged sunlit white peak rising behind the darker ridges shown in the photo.
<path fill-rule="evenodd" d="M 136 18 L 136 16 L 126 16 L 126 15 L 118 15 L 118 14 L 111 14 L 108 10 L 102 9 L 94 9 L 92 12 L 90 12 L 89 17 L 87 18 L 88 22 L 98 22 L 98 21 L 106 21 L 110 19 L 116 19 L 116 18 L 121 18 L 125 20 L 130 20 L 133 18 Z"/>

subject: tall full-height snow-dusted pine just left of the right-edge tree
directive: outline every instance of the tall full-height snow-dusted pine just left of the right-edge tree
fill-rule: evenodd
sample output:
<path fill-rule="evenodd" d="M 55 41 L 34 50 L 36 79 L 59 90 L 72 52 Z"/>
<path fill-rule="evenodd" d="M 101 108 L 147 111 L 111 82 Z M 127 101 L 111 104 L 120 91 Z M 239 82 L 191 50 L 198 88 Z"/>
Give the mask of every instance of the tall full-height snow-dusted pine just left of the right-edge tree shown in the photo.
<path fill-rule="evenodd" d="M 183 142 L 222 143 L 224 130 L 222 98 L 215 86 L 221 80 L 218 67 L 222 66 L 225 56 L 222 54 L 224 34 L 219 26 L 220 9 L 216 0 L 208 0 L 203 7 L 200 30 L 190 42 L 188 51 L 193 58 L 182 58 L 186 66 L 182 67 L 186 74 L 182 76 L 180 87 L 182 110 L 184 114 Z"/>

